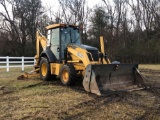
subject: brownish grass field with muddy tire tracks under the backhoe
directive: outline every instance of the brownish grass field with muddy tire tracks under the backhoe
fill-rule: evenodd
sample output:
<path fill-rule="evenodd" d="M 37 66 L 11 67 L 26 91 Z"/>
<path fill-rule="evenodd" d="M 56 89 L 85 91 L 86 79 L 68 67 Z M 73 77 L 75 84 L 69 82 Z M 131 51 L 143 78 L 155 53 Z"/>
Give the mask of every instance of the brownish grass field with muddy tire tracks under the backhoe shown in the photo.
<path fill-rule="evenodd" d="M 159 120 L 160 65 L 139 69 L 150 89 L 108 97 L 88 94 L 78 84 L 63 86 L 59 79 L 17 80 L 20 69 L 0 69 L 0 120 Z"/>

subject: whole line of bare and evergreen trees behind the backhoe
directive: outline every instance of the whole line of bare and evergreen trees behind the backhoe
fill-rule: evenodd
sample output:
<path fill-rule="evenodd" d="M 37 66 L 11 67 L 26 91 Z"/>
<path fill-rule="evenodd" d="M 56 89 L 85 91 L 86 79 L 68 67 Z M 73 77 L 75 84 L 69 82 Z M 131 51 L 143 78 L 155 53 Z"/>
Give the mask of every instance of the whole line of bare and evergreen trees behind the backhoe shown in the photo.
<path fill-rule="evenodd" d="M 1 0 L 0 56 L 34 56 L 36 30 L 67 23 L 79 26 L 84 44 L 99 48 L 103 35 L 112 61 L 160 63 L 159 0 L 101 0 L 94 8 L 87 0 L 58 1 L 53 11 L 41 0 Z"/>

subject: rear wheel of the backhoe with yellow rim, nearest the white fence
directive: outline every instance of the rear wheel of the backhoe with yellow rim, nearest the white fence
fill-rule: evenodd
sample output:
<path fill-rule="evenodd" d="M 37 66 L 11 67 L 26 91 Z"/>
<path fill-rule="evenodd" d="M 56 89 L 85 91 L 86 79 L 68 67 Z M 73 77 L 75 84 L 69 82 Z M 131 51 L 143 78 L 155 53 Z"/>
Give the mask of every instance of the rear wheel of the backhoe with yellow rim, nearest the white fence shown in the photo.
<path fill-rule="evenodd" d="M 42 80 L 51 80 L 50 63 L 47 58 L 42 57 L 40 61 L 40 78 Z"/>

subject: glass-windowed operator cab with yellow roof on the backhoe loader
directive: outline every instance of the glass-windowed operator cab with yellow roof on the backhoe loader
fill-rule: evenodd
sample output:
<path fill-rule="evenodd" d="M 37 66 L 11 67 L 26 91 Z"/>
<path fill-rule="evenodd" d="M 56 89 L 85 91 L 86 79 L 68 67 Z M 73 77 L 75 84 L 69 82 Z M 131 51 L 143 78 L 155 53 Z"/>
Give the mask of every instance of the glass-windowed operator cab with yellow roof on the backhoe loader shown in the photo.
<path fill-rule="evenodd" d="M 77 26 L 53 24 L 47 29 L 47 47 L 54 53 L 58 61 L 65 59 L 65 51 L 69 43 L 81 44 Z"/>

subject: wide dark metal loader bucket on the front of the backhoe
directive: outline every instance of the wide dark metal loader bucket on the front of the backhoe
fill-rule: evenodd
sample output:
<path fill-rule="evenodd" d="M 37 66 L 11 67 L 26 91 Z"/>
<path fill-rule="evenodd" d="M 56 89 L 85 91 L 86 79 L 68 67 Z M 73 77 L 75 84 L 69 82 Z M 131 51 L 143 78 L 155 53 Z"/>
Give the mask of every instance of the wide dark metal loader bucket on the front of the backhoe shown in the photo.
<path fill-rule="evenodd" d="M 83 79 L 84 89 L 97 95 L 141 89 L 144 84 L 138 64 L 88 65 Z"/>

